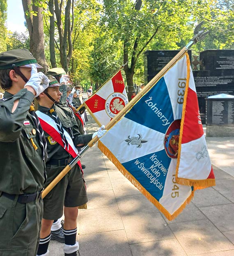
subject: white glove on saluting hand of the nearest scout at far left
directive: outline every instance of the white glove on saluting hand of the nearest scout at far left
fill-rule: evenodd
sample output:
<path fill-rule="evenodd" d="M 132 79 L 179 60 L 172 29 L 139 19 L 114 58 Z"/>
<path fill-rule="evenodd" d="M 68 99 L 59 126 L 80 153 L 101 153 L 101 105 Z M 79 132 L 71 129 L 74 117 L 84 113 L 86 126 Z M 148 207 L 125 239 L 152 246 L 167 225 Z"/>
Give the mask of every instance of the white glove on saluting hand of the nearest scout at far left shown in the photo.
<path fill-rule="evenodd" d="M 50 80 L 42 72 L 37 73 L 37 67 L 32 64 L 31 77 L 25 86 L 30 86 L 36 92 L 35 97 L 37 97 L 41 92 L 44 92 L 49 86 Z M 25 87 L 24 86 L 24 87 Z"/>

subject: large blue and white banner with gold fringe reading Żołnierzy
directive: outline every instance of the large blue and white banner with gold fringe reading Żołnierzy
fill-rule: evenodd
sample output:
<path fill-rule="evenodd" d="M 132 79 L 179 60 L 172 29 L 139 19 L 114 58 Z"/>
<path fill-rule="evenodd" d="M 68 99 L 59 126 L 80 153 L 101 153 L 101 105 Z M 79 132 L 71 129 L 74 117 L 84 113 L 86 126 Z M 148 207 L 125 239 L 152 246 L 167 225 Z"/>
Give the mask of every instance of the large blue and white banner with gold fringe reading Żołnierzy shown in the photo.
<path fill-rule="evenodd" d="M 130 111 L 100 138 L 98 143 L 100 150 L 117 166 L 119 171 L 169 220 L 177 217 L 185 208 L 193 197 L 194 191 L 193 187 L 179 185 L 176 182 L 176 173 L 180 174 L 176 170 L 177 165 L 183 166 L 183 178 L 186 180 L 190 179 L 186 176 L 186 170 L 188 170 L 188 176 L 194 171 L 197 173 L 196 178 L 205 176 L 206 179 L 214 181 L 214 177 L 210 175 L 213 173 L 211 164 L 207 160 L 209 155 L 206 156 L 207 161 L 205 163 L 203 161 L 202 165 L 200 162 L 204 157 L 198 153 L 197 157 L 201 161 L 196 163 L 194 159 L 190 159 L 190 165 L 188 165 L 189 159 L 187 158 L 196 158 L 196 150 L 199 146 L 193 142 L 192 148 L 179 145 L 181 139 L 182 143 L 186 143 L 188 138 L 191 140 L 202 136 L 201 130 L 199 129 L 197 133 L 195 128 L 191 130 L 195 134 L 189 136 L 186 130 L 189 128 L 185 124 L 180 133 L 181 122 L 187 118 L 187 116 L 184 117 L 185 107 L 188 102 L 191 104 L 191 101 L 186 101 L 186 97 L 190 95 L 186 94 L 189 82 L 191 90 L 195 92 L 193 78 L 189 76 L 189 73 L 190 63 L 186 54 L 140 97 Z M 183 103 L 185 103 L 184 108 Z M 191 112 L 192 109 L 198 111 L 198 108 L 190 107 Z M 196 118 L 191 124 L 200 122 L 198 112 L 193 113 L 191 117 Z M 204 145 L 202 140 L 200 149 L 200 151 L 203 150 L 202 152 L 205 151 L 202 148 Z M 180 161 L 177 161 L 178 152 L 181 157 Z M 187 161 L 185 162 L 184 159 Z M 197 170 L 197 168 L 200 169 Z M 203 174 L 200 175 L 200 173 Z M 211 183 L 207 182 L 206 186 L 213 185 Z M 197 186 L 196 189 L 200 187 Z"/>

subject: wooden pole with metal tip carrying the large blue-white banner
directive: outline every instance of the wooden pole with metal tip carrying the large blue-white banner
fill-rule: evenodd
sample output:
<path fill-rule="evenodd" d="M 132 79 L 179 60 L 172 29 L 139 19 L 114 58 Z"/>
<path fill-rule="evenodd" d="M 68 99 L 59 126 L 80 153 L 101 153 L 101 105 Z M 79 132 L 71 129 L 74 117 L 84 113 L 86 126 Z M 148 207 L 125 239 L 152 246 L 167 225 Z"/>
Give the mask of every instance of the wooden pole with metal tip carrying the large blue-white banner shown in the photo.
<path fill-rule="evenodd" d="M 188 44 L 186 46 L 184 46 L 184 48 L 181 49 L 181 51 L 179 51 L 179 53 L 177 53 L 177 55 L 161 70 L 158 72 L 158 74 L 156 74 L 156 76 L 154 76 L 153 79 L 151 79 L 151 81 L 149 81 L 149 83 L 147 83 L 147 85 L 145 85 L 145 87 L 106 125 L 106 129 L 110 129 L 112 128 L 115 123 L 117 123 L 122 116 L 124 116 L 132 107 L 133 105 L 142 97 L 142 95 L 144 95 L 146 92 L 148 92 L 151 87 L 153 85 L 155 85 L 155 83 L 162 77 L 165 75 L 165 73 L 172 67 L 174 66 L 174 64 L 180 60 L 184 54 L 186 53 L 186 51 L 188 51 L 188 49 L 191 48 L 191 46 L 193 46 L 193 44 L 196 44 L 197 42 L 199 42 L 200 40 L 202 40 L 207 33 L 209 33 L 209 31 L 204 32 L 204 30 L 200 30 L 202 27 L 203 21 L 198 24 L 194 30 L 194 37 L 193 39 L 191 39 Z M 126 64 L 124 64 L 126 65 Z M 44 189 L 44 191 L 42 192 L 42 198 L 44 198 L 51 189 L 53 189 L 53 187 L 55 187 L 55 185 L 57 185 L 58 182 L 60 182 L 60 180 L 71 170 L 71 168 L 73 166 L 75 166 L 77 164 L 77 162 L 81 159 L 81 157 L 83 157 L 83 155 L 85 155 L 85 153 L 92 148 L 92 146 L 98 141 L 98 137 L 95 136 L 91 141 L 89 141 L 89 143 L 83 148 L 83 150 L 81 150 L 81 152 L 77 155 L 77 157 L 75 157 L 71 163 L 69 165 L 67 165 L 61 172 L 59 175 L 57 175 L 57 177 L 46 187 L 46 189 Z"/>

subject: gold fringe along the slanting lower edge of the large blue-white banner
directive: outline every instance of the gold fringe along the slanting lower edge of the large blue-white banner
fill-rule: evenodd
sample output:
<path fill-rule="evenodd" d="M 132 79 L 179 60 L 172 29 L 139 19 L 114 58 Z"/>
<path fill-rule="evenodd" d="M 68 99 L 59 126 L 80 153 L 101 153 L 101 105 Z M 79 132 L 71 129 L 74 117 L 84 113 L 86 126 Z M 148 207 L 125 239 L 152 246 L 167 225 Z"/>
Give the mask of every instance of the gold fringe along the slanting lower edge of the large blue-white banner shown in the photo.
<path fill-rule="evenodd" d="M 136 180 L 131 173 L 129 173 L 124 166 L 119 162 L 119 160 L 110 152 L 110 150 L 101 142 L 98 141 L 98 148 L 105 154 L 110 161 L 119 169 L 119 171 L 151 202 L 153 203 L 160 212 L 162 212 L 168 220 L 175 219 L 186 207 L 188 203 L 190 203 L 191 199 L 194 196 L 194 191 L 191 192 L 191 195 L 184 201 L 179 209 L 177 209 L 173 214 L 170 214 L 149 192 L 142 187 L 140 182 Z"/>

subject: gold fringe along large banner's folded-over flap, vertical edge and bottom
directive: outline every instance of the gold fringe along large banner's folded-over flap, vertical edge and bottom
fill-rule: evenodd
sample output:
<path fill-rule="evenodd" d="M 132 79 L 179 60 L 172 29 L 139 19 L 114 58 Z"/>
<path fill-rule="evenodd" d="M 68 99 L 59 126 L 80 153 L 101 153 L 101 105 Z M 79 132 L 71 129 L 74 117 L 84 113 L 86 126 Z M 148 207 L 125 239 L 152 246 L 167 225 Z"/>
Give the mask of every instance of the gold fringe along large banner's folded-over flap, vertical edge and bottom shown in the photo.
<path fill-rule="evenodd" d="M 182 136 L 184 131 L 184 119 L 185 119 L 185 113 L 186 113 L 186 104 L 187 104 L 189 79 L 190 79 L 190 60 L 187 52 L 185 55 L 187 60 L 187 78 L 186 78 L 186 88 L 185 88 L 185 94 L 184 94 L 181 126 L 180 126 L 180 132 L 179 132 L 179 149 L 178 149 L 178 158 L 177 158 L 177 166 L 176 166 L 176 182 L 180 185 L 194 186 L 194 190 L 197 190 L 197 189 L 204 189 L 206 187 L 215 186 L 215 180 L 214 179 L 190 180 L 190 179 L 184 179 L 184 178 L 178 177 L 180 156 L 181 156 L 181 143 L 182 143 Z"/>

